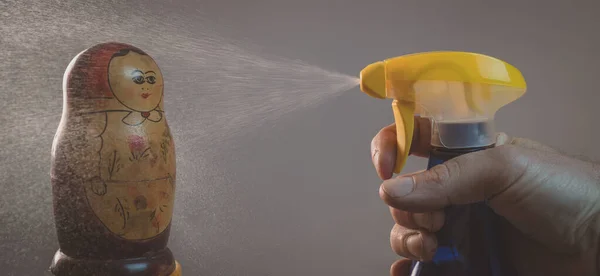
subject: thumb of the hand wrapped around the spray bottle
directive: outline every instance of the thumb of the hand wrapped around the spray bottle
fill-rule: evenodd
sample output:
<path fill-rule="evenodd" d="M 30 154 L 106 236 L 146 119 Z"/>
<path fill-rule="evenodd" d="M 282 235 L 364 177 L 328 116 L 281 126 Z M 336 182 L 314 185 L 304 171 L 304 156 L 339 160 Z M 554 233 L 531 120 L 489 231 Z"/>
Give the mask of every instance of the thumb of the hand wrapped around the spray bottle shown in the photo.
<path fill-rule="evenodd" d="M 516 183 L 527 167 L 512 145 L 458 156 L 427 171 L 383 182 L 381 198 L 391 207 L 430 212 L 491 199 Z"/>

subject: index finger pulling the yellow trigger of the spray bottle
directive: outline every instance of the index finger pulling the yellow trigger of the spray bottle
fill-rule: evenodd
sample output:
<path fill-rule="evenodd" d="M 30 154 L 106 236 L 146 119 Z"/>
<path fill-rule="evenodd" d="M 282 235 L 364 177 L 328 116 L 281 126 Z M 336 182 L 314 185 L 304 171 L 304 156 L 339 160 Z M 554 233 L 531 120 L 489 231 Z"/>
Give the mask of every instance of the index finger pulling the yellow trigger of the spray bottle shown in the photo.
<path fill-rule="evenodd" d="M 431 123 L 427 118 L 415 116 L 410 154 L 428 157 L 431 150 Z M 377 174 L 383 180 L 394 173 L 397 156 L 396 125 L 391 124 L 379 131 L 371 141 L 371 158 Z"/>

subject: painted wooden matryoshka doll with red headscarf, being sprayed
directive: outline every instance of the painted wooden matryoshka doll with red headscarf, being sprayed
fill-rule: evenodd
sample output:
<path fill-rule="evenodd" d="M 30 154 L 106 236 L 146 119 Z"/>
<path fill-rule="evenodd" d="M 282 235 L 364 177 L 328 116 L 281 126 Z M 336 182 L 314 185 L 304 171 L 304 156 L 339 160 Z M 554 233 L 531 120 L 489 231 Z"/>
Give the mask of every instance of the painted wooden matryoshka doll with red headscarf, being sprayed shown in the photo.
<path fill-rule="evenodd" d="M 52 146 L 54 275 L 180 275 L 167 248 L 176 173 L 163 87 L 152 57 L 127 44 L 69 64 Z"/>

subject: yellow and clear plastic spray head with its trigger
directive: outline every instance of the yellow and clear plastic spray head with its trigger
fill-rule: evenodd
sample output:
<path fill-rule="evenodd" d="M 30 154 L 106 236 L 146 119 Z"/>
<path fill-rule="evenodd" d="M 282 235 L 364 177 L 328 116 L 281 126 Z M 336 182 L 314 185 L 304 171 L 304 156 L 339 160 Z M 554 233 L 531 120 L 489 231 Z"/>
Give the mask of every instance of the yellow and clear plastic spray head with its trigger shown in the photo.
<path fill-rule="evenodd" d="M 437 131 L 436 124 L 491 121 L 498 109 L 521 97 L 526 88 L 523 75 L 514 66 L 468 52 L 400 56 L 375 62 L 360 72 L 360 89 L 364 93 L 394 99 L 396 173 L 408 158 L 417 112 L 434 122 L 432 135 L 438 136 L 432 136 L 432 143 L 435 140 L 448 148 L 482 146 L 492 142 L 492 134 L 484 133 L 479 140 L 460 139 L 456 133 L 444 137 L 446 134 Z"/>

